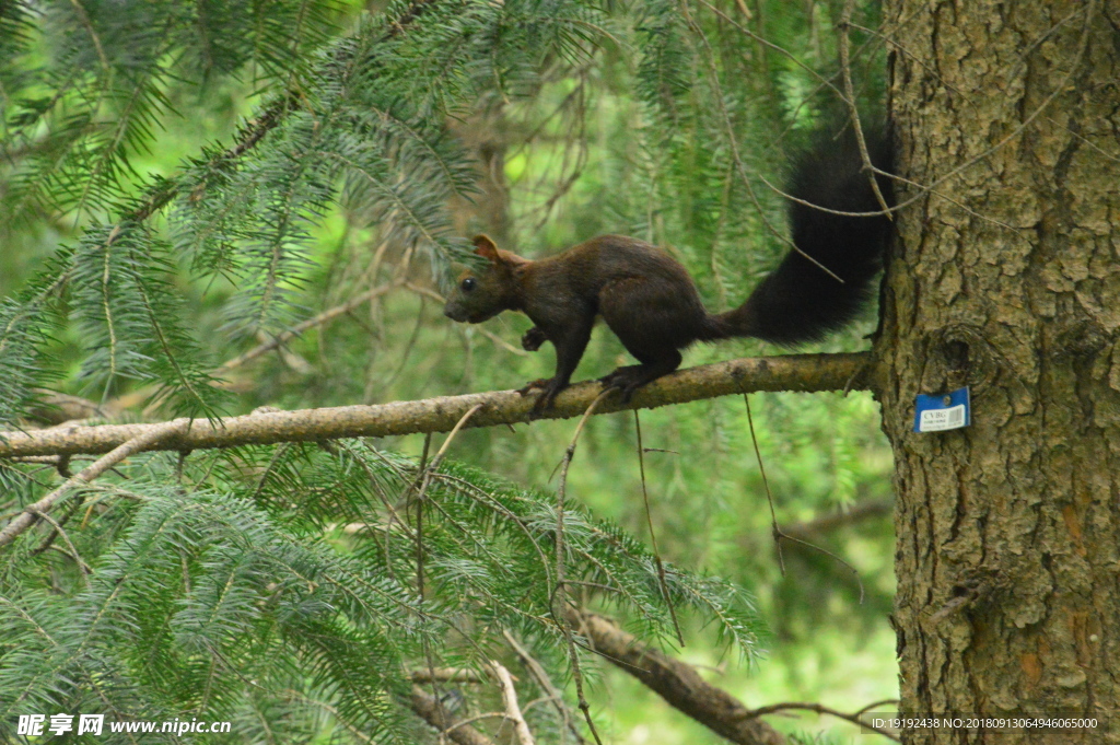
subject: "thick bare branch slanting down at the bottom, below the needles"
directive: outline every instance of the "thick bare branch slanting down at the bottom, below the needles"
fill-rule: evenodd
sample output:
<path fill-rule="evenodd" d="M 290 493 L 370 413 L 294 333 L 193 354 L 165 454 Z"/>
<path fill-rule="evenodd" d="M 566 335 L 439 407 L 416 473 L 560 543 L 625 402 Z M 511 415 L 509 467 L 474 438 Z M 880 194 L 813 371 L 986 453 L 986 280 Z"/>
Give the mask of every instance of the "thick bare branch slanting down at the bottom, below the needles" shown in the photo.
<path fill-rule="evenodd" d="M 569 611 L 572 626 L 591 646 L 624 672 L 634 676 L 672 707 L 720 737 L 740 745 L 785 745 L 785 736 L 690 664 L 665 656 L 600 615 Z"/>

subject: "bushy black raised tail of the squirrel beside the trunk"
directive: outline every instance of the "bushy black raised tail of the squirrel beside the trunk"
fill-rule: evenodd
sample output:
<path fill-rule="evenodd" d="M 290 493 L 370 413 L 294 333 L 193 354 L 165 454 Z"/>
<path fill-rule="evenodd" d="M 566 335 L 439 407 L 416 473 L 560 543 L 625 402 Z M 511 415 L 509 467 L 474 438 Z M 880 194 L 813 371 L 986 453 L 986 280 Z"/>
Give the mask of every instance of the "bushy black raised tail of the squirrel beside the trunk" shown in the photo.
<path fill-rule="evenodd" d="M 876 168 L 894 173 L 892 148 L 879 132 L 865 134 Z M 849 127 L 838 139 L 825 139 L 796 166 L 790 193 L 797 199 L 837 212 L 880 212 L 868 175 L 862 170 L 856 136 Z M 890 179 L 877 176 L 879 192 L 894 205 Z M 868 300 L 893 234 L 885 215 L 856 217 L 790 203 L 794 245 L 843 282 L 797 251 L 782 260 L 734 310 L 708 316 L 710 339 L 753 336 L 775 344 L 816 341 L 848 324 Z"/>

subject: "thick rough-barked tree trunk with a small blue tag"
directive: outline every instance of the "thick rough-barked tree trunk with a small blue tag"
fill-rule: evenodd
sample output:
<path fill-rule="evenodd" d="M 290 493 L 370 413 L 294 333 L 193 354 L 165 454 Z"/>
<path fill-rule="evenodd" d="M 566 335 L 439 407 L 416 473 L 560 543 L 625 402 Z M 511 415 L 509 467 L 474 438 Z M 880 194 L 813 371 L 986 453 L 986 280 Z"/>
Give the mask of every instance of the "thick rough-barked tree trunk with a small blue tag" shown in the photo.
<path fill-rule="evenodd" d="M 904 742 L 1120 743 L 1120 4 L 887 4 L 898 161 L 934 187 L 900 189 L 876 343 L 902 709 L 1096 718 Z M 971 427 L 912 431 L 964 384 Z"/>

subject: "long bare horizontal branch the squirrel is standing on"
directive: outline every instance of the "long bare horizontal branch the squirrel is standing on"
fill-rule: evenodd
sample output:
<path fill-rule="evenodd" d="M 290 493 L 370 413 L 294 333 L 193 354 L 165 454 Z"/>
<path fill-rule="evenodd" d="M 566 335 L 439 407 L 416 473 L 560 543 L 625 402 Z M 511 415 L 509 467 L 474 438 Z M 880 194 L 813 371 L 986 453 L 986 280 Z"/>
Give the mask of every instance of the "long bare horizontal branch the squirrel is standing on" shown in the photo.
<path fill-rule="evenodd" d="M 679 370 L 634 394 L 629 404 L 610 395 L 596 409 L 608 413 L 624 409 L 653 409 L 670 403 L 711 399 L 753 391 L 862 390 L 868 383 L 870 355 L 803 354 L 745 357 L 712 365 Z M 582 416 L 601 392 L 597 382 L 572 385 L 557 397 L 543 419 Z M 450 431 L 473 407 L 483 408 L 467 427 L 493 427 L 530 421 L 534 397 L 516 391 L 448 395 L 380 406 L 348 406 L 297 411 L 270 411 L 214 421 L 195 420 L 188 429 L 149 444 L 149 450 L 194 450 L 306 443 L 338 437 L 388 437 L 416 432 Z M 27 432 L 0 432 L 0 457 L 108 453 L 161 425 L 103 425 L 55 427 Z"/>

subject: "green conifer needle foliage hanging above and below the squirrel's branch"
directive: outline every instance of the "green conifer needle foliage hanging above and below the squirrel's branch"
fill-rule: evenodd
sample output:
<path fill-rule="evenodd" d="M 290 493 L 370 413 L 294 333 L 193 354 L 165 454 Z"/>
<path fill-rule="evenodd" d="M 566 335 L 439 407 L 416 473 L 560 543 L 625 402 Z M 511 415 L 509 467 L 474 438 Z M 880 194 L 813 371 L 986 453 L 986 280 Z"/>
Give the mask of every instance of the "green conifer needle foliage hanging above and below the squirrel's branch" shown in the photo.
<path fill-rule="evenodd" d="M 468 255 L 448 204 L 478 183 L 452 123 L 488 99 L 540 132 L 529 124 L 547 122 L 558 81 L 644 122 L 633 148 L 600 153 L 618 188 L 599 211 L 685 258 L 715 246 L 699 281 L 721 295 L 728 262 L 749 271 L 778 245 L 763 227 L 776 201 L 739 140 L 809 115 L 775 96 L 800 101 L 825 78 L 765 58 L 703 10 L 743 3 L 717 4 L 0 2 L 0 243 L 59 236 L 0 300 L 0 430 L 25 426 L 59 380 L 102 403 L 148 390 L 166 416 L 235 411 L 184 277 L 228 288 L 208 307 L 227 344 L 279 334 L 308 315 L 315 231 L 339 206 L 440 274 Z M 240 125 L 140 173 L 177 120 L 237 86 L 253 102 Z M 719 251 L 748 233 L 763 235 L 755 258 Z M 68 468 L 0 460 L 2 516 Z M 132 457 L 0 549 L 0 739 L 19 715 L 81 713 L 233 723 L 206 743 L 435 742 L 414 686 L 460 718 L 502 709 L 492 686 L 430 673 L 485 679 L 491 660 L 516 659 L 506 635 L 570 682 L 557 521 L 554 494 L 364 440 Z M 691 608 L 754 653 L 741 588 L 672 566 L 662 578 L 640 541 L 570 501 L 563 536 L 569 598 L 608 604 L 647 640 L 672 633 L 670 605 Z M 524 700 L 551 695 L 517 686 Z M 541 742 L 572 742 L 562 710 L 526 711 Z M 180 742 L 143 742 L 161 737 Z"/>

